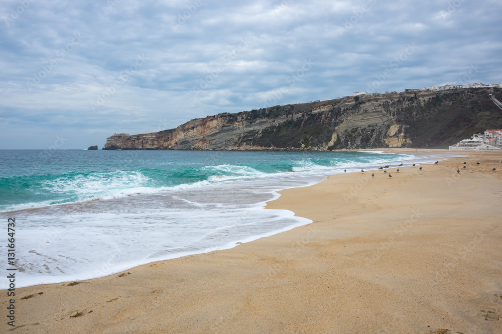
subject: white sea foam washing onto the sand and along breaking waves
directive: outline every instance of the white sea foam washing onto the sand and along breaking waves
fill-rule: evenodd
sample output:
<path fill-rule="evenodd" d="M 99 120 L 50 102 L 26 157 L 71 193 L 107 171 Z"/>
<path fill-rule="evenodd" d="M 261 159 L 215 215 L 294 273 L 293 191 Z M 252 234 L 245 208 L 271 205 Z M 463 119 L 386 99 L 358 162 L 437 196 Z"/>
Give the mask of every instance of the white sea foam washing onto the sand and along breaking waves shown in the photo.
<path fill-rule="evenodd" d="M 153 261 L 235 247 L 237 242 L 257 240 L 310 222 L 292 211 L 265 209 L 266 201 L 278 198 L 280 189 L 315 184 L 325 175 L 343 172 L 345 167 L 375 169 L 384 163 L 397 166 L 401 161 L 411 165 L 438 160 L 437 156 L 405 158 L 409 160 L 389 162 L 376 156 L 362 166 L 353 162 L 314 166 L 306 162 L 300 172 L 275 174 L 220 165 L 213 170 L 235 173 L 235 178 L 225 175 L 174 187 L 144 186 L 150 181 L 143 174 L 118 174 L 118 180 L 109 183 L 97 180 L 87 187 L 96 193 L 106 184 L 115 189 L 99 196 L 101 200 L 87 198 L 15 212 L 16 221 L 23 226 L 16 234 L 16 264 L 24 269 L 19 272 L 17 287 L 90 279 Z M 78 180 L 73 185 L 57 182 L 60 189 L 85 187 Z M 137 186 L 120 189 L 120 182 Z M 0 248 L 0 257 L 5 258 L 5 251 L 5 247 Z M 0 288 L 7 286 L 8 282 L 0 279 Z"/>

